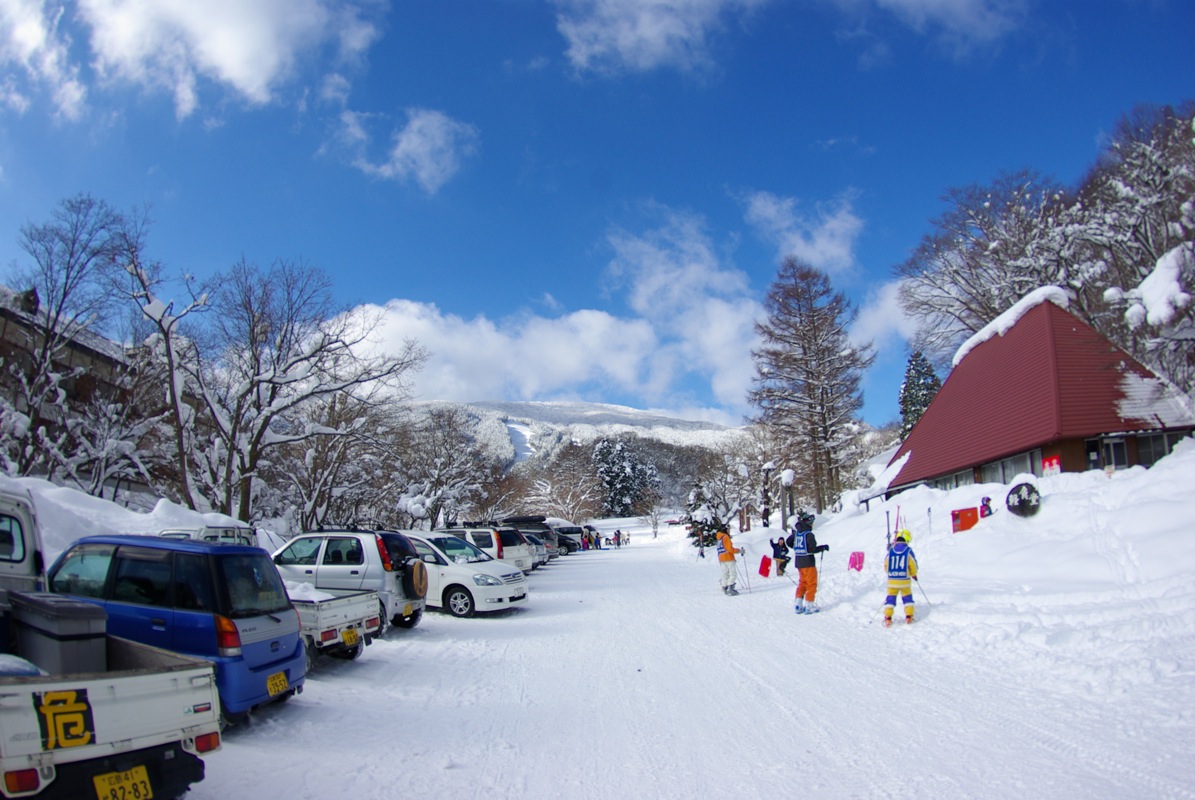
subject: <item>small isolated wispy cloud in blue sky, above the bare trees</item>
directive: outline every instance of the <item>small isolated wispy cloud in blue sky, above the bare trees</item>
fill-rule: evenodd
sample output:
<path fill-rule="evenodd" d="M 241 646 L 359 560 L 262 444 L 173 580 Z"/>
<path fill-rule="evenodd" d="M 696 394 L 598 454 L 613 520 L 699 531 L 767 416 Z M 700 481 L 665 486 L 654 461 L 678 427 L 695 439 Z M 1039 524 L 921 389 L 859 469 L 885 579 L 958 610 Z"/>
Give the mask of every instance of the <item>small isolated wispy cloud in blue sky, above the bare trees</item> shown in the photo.
<path fill-rule="evenodd" d="M 344 111 L 341 115 L 341 139 L 363 149 L 368 134 L 363 115 Z M 397 130 L 386 160 L 374 163 L 358 155 L 355 164 L 368 175 L 394 181 L 415 181 L 434 195 L 456 172 L 465 158 L 478 149 L 480 135 L 476 127 L 453 120 L 442 111 L 407 109 L 406 127 Z"/>

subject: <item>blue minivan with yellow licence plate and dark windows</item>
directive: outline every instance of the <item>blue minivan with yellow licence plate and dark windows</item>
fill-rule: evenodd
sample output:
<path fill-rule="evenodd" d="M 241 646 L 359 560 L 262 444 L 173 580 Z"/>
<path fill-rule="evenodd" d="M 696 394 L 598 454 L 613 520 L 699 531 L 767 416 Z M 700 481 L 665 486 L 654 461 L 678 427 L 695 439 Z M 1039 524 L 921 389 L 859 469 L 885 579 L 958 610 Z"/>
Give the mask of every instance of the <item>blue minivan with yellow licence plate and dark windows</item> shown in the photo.
<path fill-rule="evenodd" d="M 302 691 L 299 613 L 261 548 L 88 536 L 48 579 L 51 592 L 102 605 L 109 634 L 212 661 L 227 721 Z"/>

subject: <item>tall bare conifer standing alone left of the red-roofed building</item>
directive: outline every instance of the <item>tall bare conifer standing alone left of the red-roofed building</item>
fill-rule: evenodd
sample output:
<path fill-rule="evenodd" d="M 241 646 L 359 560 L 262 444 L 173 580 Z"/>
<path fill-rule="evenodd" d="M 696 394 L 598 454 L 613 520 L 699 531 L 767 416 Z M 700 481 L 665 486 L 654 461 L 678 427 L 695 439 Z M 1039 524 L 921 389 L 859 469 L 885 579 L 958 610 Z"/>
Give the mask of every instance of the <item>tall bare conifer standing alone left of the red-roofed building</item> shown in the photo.
<path fill-rule="evenodd" d="M 854 415 L 863 407 L 859 381 L 875 354 L 851 344 L 856 311 L 829 279 L 795 258 L 785 259 L 768 289 L 767 319 L 756 325 L 762 344 L 752 355 L 756 377 L 748 395 L 759 423 L 793 442 L 797 480 L 817 511 L 833 503 L 853 469 Z"/>

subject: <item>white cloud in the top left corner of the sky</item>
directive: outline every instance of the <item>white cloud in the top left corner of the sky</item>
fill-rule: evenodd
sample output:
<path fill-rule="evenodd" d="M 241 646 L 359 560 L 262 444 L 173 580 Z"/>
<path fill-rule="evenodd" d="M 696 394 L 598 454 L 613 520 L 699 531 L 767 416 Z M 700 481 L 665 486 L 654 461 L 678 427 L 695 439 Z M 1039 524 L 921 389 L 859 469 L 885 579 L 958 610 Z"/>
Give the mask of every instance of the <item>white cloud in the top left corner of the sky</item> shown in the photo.
<path fill-rule="evenodd" d="M 79 68 L 71 63 L 71 39 L 60 31 L 65 10 L 43 0 L 0 2 L 0 67 L 19 71 L 43 85 L 54 98 L 55 112 L 78 120 L 84 111 L 87 90 L 79 80 Z M 0 86 L 4 105 L 23 112 L 30 105 L 10 74 Z"/>

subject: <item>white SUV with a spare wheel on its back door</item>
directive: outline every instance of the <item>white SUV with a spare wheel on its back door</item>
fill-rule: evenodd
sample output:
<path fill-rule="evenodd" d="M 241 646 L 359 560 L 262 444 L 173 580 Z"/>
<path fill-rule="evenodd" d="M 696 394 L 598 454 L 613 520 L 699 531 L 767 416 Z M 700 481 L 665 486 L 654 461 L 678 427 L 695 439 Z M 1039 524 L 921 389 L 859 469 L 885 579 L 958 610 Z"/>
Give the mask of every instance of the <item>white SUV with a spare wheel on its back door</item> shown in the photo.
<path fill-rule="evenodd" d="M 315 588 L 378 592 L 382 618 L 399 628 L 423 618 L 428 570 L 398 531 L 301 533 L 274 554 L 274 563 L 286 580 Z"/>

